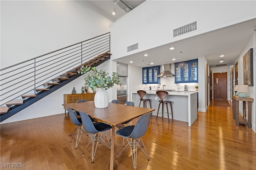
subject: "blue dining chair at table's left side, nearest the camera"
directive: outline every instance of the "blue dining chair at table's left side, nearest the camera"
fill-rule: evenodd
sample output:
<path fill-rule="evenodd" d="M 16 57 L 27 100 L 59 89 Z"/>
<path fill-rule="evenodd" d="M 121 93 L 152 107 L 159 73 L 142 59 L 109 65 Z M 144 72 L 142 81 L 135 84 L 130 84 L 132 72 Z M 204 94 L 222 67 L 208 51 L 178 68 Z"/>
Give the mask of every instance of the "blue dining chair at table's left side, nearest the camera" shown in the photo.
<path fill-rule="evenodd" d="M 93 163 L 93 159 L 94 159 L 99 141 L 103 142 L 104 145 L 106 145 L 109 149 L 111 149 L 111 145 L 110 145 L 110 142 L 108 141 L 108 138 L 106 137 L 107 141 L 104 141 L 104 140 L 101 140 L 102 139 L 101 136 L 103 132 L 112 129 L 112 126 L 102 122 L 92 123 L 90 117 L 86 113 L 82 111 L 79 111 L 79 113 L 81 115 L 84 130 L 88 133 L 88 136 L 90 136 L 91 138 L 91 141 L 88 143 L 88 145 L 92 143 L 92 163 Z M 96 146 L 95 146 L 95 141 L 97 141 Z M 87 140 L 86 140 L 86 143 L 87 143 Z M 88 145 L 84 147 L 82 154 L 84 154 L 84 150 L 88 147 Z M 94 147 L 95 147 L 95 150 L 94 150 Z"/>

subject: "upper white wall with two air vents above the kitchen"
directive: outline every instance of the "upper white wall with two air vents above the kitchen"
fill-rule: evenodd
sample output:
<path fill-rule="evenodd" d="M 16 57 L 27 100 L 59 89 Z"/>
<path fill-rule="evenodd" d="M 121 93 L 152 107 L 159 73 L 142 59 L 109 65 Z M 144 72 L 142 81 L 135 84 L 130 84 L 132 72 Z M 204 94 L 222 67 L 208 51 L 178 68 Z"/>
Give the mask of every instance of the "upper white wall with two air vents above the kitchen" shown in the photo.
<path fill-rule="evenodd" d="M 110 25 L 112 59 L 253 18 L 254 1 L 149 0 Z M 173 29 L 193 21 L 198 21 L 197 31 L 173 38 Z M 127 53 L 126 47 L 135 43 L 138 49 Z"/>

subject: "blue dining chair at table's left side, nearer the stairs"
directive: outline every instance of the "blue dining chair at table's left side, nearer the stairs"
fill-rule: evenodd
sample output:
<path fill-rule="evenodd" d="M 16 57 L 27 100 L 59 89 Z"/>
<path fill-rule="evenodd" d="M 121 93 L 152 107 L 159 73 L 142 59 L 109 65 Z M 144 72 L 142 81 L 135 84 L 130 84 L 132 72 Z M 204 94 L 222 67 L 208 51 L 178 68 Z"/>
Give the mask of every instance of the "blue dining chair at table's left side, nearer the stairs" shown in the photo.
<path fill-rule="evenodd" d="M 71 139 L 70 139 L 70 143 L 72 142 L 72 139 L 74 137 L 74 132 L 76 131 L 77 133 L 77 137 L 76 137 L 76 147 L 75 149 L 77 149 L 77 145 L 82 137 L 82 134 L 83 134 L 83 131 L 84 129 L 82 129 L 82 120 L 81 118 L 77 118 L 74 111 L 70 108 L 70 107 L 67 107 L 68 108 L 68 115 L 70 117 L 70 121 L 76 125 L 75 129 L 72 131 L 72 133 L 70 134 L 71 135 Z M 79 136 L 79 133 L 80 133 L 80 137 L 79 137 L 79 140 L 78 140 L 78 136 Z"/>

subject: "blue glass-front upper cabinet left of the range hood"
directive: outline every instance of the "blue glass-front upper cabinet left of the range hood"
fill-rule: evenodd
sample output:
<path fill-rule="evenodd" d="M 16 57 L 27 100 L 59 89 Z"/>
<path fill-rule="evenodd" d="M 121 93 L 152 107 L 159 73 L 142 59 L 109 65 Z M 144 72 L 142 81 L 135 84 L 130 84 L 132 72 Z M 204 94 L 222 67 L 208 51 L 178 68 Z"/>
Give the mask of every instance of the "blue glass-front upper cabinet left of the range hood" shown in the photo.
<path fill-rule="evenodd" d="M 160 84 L 160 66 L 142 68 L 142 84 Z"/>

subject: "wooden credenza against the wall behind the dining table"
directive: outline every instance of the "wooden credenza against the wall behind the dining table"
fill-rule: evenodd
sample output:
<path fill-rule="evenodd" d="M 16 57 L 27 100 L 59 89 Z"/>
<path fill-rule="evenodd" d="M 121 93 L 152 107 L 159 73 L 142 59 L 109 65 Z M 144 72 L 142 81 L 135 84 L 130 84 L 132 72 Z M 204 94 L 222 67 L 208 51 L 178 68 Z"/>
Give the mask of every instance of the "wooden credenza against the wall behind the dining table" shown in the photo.
<path fill-rule="evenodd" d="M 77 94 L 64 94 L 64 104 L 76 103 L 77 100 L 85 99 L 87 101 L 94 100 L 95 93 L 77 93 Z M 65 113 L 68 110 L 65 106 Z"/>

